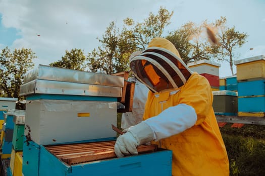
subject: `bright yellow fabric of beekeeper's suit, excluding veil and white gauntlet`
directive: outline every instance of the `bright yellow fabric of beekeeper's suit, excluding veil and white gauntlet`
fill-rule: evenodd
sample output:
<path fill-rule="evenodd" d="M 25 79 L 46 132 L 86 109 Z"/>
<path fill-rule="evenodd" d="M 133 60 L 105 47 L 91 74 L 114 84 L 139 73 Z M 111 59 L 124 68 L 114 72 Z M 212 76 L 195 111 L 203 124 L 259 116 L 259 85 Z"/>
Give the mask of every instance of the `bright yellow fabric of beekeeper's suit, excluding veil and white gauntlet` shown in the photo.
<path fill-rule="evenodd" d="M 178 53 L 176 48 L 163 46 L 159 39 L 148 47 L 152 46 Z M 176 90 L 179 90 L 177 94 L 170 95 L 170 92 Z M 193 72 L 178 89 L 160 93 L 149 91 L 143 120 L 178 104 L 186 104 L 195 109 L 195 125 L 180 134 L 153 142 L 173 151 L 172 175 L 229 175 L 228 156 L 212 107 L 213 94 L 205 77 Z"/>

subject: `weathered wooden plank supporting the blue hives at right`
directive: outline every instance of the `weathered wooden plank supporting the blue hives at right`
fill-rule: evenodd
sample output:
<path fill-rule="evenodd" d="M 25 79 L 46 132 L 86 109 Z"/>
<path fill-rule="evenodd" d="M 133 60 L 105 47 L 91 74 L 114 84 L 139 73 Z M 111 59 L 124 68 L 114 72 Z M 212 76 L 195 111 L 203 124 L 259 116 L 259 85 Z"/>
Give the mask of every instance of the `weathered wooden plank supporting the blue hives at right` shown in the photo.
<path fill-rule="evenodd" d="M 216 115 L 218 122 L 228 123 L 242 123 L 242 124 L 253 124 L 253 125 L 265 125 L 264 117 L 248 117 L 248 116 L 220 116 Z"/>

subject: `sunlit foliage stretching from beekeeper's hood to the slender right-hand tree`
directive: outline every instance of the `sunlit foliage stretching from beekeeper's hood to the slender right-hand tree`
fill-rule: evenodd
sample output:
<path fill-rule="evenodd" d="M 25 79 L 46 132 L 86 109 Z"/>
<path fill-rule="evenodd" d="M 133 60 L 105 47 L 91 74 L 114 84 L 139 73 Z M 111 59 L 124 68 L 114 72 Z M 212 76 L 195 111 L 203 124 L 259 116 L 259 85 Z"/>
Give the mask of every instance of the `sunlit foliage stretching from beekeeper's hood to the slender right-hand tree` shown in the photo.
<path fill-rule="evenodd" d="M 228 28 L 226 26 L 226 18 L 221 17 L 213 24 L 207 24 L 204 21 L 201 25 L 195 25 L 188 22 L 176 31 L 169 33 L 166 37 L 179 50 L 180 56 L 185 63 L 196 60 L 228 61 L 230 69 L 233 72 L 233 60 L 235 58 L 235 49 L 241 47 L 246 41 L 248 35 L 236 31 L 235 27 Z M 215 34 L 213 34 L 218 43 L 213 44 L 208 41 L 205 36 L 207 26 L 213 26 Z"/>

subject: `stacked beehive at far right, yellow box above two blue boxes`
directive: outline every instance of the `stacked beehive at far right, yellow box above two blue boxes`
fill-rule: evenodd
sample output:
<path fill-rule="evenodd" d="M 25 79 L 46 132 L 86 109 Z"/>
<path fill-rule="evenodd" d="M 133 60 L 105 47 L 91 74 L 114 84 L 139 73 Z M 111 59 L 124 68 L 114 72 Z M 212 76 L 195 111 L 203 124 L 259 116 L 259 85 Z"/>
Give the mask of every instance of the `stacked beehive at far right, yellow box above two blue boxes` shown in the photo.
<path fill-rule="evenodd" d="M 235 60 L 238 81 L 238 116 L 265 115 L 265 56 Z"/>

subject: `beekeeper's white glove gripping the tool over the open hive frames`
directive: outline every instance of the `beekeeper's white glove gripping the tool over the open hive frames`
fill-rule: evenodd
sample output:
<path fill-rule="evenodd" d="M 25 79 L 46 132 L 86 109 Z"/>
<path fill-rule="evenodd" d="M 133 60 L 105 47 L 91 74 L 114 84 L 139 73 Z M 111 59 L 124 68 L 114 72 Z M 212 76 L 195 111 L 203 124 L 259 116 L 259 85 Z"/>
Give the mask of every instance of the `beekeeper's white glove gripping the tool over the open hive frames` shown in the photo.
<path fill-rule="evenodd" d="M 128 128 L 127 132 L 117 138 L 114 146 L 118 157 L 124 155 L 136 155 L 139 145 L 150 142 L 154 138 L 153 130 L 143 121 Z"/>

